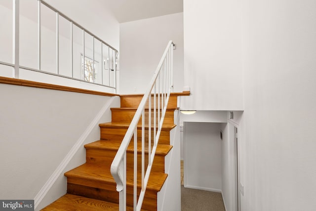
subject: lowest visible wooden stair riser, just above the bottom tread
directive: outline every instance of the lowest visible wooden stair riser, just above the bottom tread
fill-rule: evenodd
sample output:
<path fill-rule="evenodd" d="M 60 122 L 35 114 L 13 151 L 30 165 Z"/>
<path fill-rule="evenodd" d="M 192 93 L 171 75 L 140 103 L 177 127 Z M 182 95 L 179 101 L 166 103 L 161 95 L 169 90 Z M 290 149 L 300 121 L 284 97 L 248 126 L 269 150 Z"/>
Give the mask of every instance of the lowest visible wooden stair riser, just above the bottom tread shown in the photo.
<path fill-rule="evenodd" d="M 127 186 L 126 205 L 133 206 L 133 188 Z M 76 183 L 67 184 L 67 193 L 83 196 L 91 199 L 98 199 L 112 203 L 118 203 L 118 192 L 116 185 L 112 185 L 111 189 L 103 189 L 98 187 L 85 186 Z M 139 196 L 140 188 L 137 188 L 137 196 Z M 157 210 L 157 192 L 146 190 L 142 209 L 155 211 Z"/>

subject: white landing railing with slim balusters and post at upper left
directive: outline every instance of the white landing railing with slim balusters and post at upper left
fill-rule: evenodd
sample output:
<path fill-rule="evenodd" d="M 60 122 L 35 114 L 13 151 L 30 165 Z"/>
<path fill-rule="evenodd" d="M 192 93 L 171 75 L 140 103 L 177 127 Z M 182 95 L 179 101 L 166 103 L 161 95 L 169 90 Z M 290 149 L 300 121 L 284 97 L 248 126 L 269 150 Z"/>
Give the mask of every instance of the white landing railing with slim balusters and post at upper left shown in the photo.
<path fill-rule="evenodd" d="M 12 63 L 7 63 L 4 61 L 1 61 L 2 58 L 0 58 L 0 65 L 4 66 L 9 66 L 13 68 L 13 74 L 12 76 L 14 78 L 20 78 L 20 70 L 31 70 L 35 72 L 40 72 L 44 74 L 49 74 L 49 75 L 54 75 L 58 77 L 63 77 L 63 78 L 68 78 L 72 80 L 78 80 L 82 81 L 85 83 L 92 83 L 96 84 L 99 86 L 104 86 L 108 87 L 110 89 L 114 89 L 115 92 L 117 92 L 117 58 L 118 58 L 118 50 L 103 41 L 101 38 L 98 36 L 92 34 L 85 28 L 83 28 L 81 25 L 70 19 L 68 16 L 57 10 L 56 8 L 52 7 L 50 4 L 48 4 L 45 0 L 33 0 L 37 1 L 38 3 L 38 8 L 37 8 L 37 26 L 38 26 L 38 31 L 37 31 L 37 46 L 34 46 L 37 51 L 38 51 L 38 58 L 37 58 L 37 69 L 31 68 L 31 67 L 25 67 L 22 66 L 20 63 L 20 0 L 12 0 L 12 18 L 13 18 L 13 58 L 12 58 Z M 45 9 L 45 11 L 53 12 L 55 13 L 55 25 L 56 25 L 56 30 L 55 30 L 55 38 L 56 38 L 56 54 L 55 54 L 55 60 L 56 60 L 56 70 L 43 70 L 42 63 L 42 54 L 43 50 L 45 52 L 50 52 L 50 49 L 43 48 L 42 47 L 42 28 L 47 26 L 44 26 L 42 24 L 42 16 L 45 15 L 45 12 L 42 11 Z M 46 12 L 47 12 L 46 11 Z M 46 14 L 47 15 L 47 14 Z M 61 47 L 63 46 L 61 43 L 59 43 L 59 36 L 61 33 L 59 32 L 61 26 L 59 26 L 59 20 L 64 20 L 64 23 L 67 23 L 70 32 L 70 38 L 67 40 L 68 43 L 71 46 L 71 51 L 70 51 L 70 66 L 71 68 L 64 68 L 63 73 L 61 72 L 61 65 L 59 64 L 59 58 L 60 52 L 61 52 Z M 82 49 L 80 50 L 81 53 L 76 54 L 74 53 L 74 45 L 76 44 L 74 40 L 74 29 L 77 29 L 77 31 L 80 32 L 82 36 L 82 43 L 77 43 L 77 45 L 82 45 Z M 91 42 L 92 41 L 92 46 L 88 46 L 85 42 Z M 30 49 L 32 50 L 32 49 Z M 89 54 L 86 52 L 89 50 Z M 24 55 L 25 56 L 25 55 Z M 47 56 L 47 55 L 46 55 Z M 79 58 L 78 58 L 79 57 Z M 97 58 L 95 58 L 97 57 Z M 75 69 L 74 68 L 74 59 L 76 61 L 80 61 L 80 68 Z M 98 61 L 99 60 L 99 61 Z M 101 61 L 100 61 L 101 60 Z"/>

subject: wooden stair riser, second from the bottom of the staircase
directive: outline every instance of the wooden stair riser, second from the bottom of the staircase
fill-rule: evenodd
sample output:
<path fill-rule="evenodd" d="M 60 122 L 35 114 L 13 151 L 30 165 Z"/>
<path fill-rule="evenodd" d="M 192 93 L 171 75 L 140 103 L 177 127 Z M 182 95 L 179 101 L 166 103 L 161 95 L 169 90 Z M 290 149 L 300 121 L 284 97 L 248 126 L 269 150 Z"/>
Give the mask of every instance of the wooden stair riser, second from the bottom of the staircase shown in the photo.
<path fill-rule="evenodd" d="M 102 164 L 105 169 L 110 168 L 112 161 L 116 155 L 117 151 L 115 150 L 100 150 L 100 149 L 86 149 L 86 163 L 91 164 Z M 126 154 L 127 159 L 127 170 L 132 170 L 134 168 L 134 153 L 131 151 L 127 151 Z M 141 172 L 142 168 L 142 155 L 138 152 L 137 155 L 137 169 L 138 174 Z M 148 165 L 148 152 L 145 153 L 145 167 Z M 156 154 L 153 167 L 153 172 L 161 172 L 164 173 L 164 155 Z"/>

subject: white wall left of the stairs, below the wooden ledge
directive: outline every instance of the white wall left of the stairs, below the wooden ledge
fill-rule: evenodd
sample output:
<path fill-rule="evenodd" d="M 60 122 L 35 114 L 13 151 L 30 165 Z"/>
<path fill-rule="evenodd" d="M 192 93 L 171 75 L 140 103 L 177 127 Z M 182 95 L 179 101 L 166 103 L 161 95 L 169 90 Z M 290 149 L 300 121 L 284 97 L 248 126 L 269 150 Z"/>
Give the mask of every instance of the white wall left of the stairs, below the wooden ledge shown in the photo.
<path fill-rule="evenodd" d="M 0 186 L 6 190 L 0 193 L 2 199 L 34 199 L 111 99 L 6 84 L 0 84 L 0 96 Z M 111 121 L 108 110 L 104 121 Z M 93 128 L 93 138 L 85 141 L 100 137 L 98 124 Z M 83 162 L 84 156 L 79 158 Z M 66 185 L 59 189 L 65 193 Z"/>

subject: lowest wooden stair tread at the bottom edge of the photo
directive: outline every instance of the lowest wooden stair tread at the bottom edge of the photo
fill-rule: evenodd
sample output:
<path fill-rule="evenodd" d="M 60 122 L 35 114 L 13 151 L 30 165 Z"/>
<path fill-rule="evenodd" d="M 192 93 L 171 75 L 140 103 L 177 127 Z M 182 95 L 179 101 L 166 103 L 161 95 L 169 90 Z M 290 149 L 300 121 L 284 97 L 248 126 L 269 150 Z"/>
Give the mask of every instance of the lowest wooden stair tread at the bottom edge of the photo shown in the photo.
<path fill-rule="evenodd" d="M 118 204 L 66 194 L 41 211 L 117 211 Z M 126 211 L 133 208 L 126 207 Z"/>

